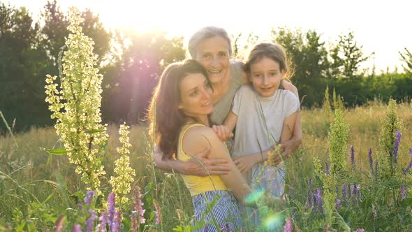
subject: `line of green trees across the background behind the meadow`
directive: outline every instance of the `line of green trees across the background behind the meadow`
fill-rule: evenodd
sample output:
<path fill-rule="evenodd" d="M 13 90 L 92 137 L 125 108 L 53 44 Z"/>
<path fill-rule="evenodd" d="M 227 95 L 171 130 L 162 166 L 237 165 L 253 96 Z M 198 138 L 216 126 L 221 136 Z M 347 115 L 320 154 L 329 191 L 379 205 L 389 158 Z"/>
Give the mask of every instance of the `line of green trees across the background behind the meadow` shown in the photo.
<path fill-rule="evenodd" d="M 98 15 L 82 12 L 84 34 L 94 41 L 94 53 L 103 74 L 102 115 L 105 122 L 137 123 L 146 108 L 163 68 L 186 57 L 183 37 L 165 33 L 136 34 L 110 30 Z M 45 103 L 45 75 L 58 75 L 58 56 L 68 36 L 68 13 L 56 0 L 47 1 L 34 22 L 27 8 L 0 1 L 0 111 L 15 129 L 52 124 Z M 412 54 L 399 51 L 406 72 L 381 73 L 360 68 L 365 55 L 354 34 L 326 44 L 314 30 L 272 29 L 270 40 L 286 49 L 293 63 L 291 81 L 303 107 L 321 106 L 325 89 L 335 89 L 346 106 L 374 99 L 402 101 L 412 94 Z M 242 59 L 260 38 L 253 33 L 233 35 L 234 56 Z M 1 123 L 0 131 L 6 126 Z"/>

